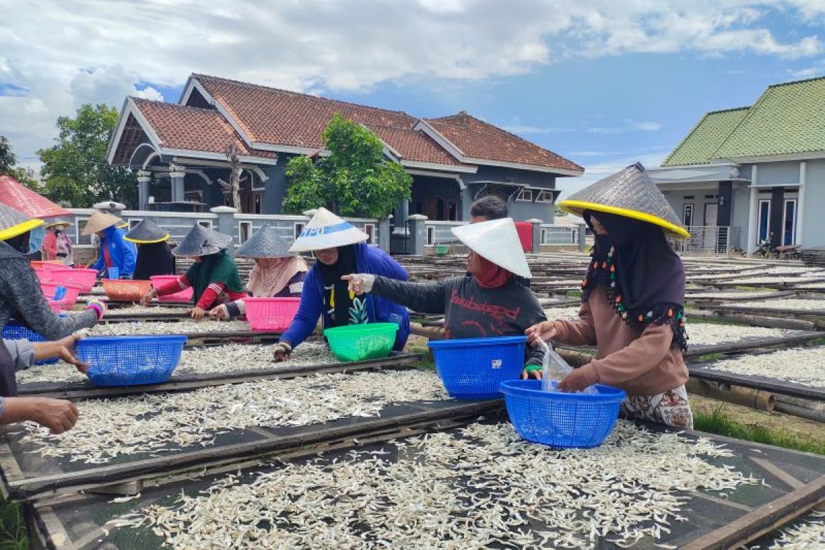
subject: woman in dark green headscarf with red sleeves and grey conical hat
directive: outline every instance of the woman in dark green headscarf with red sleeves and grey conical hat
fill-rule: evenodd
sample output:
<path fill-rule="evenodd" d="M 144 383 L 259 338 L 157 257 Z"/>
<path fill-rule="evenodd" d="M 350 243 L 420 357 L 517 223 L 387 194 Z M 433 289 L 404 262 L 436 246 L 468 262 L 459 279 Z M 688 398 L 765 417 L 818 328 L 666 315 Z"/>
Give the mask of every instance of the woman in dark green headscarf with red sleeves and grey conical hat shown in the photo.
<path fill-rule="evenodd" d="M 195 306 L 191 309 L 191 317 L 200 319 L 218 303 L 242 299 L 243 283 L 238 266 L 226 253 L 231 242 L 229 235 L 207 229 L 200 223 L 193 225 L 172 254 L 191 258 L 195 263 L 177 280 L 149 290 L 140 299 L 140 304 L 192 287 Z"/>

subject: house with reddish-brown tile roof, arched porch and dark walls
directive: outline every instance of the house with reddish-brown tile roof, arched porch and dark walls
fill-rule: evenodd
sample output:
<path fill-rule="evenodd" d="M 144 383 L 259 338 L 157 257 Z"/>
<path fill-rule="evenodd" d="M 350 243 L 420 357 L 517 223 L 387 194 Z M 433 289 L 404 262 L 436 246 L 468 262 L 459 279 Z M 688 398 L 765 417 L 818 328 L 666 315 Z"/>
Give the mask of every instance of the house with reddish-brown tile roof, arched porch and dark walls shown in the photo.
<path fill-rule="evenodd" d="M 321 134 L 342 113 L 377 134 L 384 153 L 413 176 L 413 196 L 394 212 L 432 220 L 469 219 L 476 198 L 508 200 L 515 219 L 551 223 L 556 178 L 583 168 L 535 143 L 462 111 L 421 119 L 247 82 L 192 74 L 177 104 L 127 97 L 108 161 L 138 172 L 139 209 L 181 211 L 226 204 L 226 149 L 243 167 L 242 210 L 281 214 L 285 165 L 295 155 L 324 154 Z"/>

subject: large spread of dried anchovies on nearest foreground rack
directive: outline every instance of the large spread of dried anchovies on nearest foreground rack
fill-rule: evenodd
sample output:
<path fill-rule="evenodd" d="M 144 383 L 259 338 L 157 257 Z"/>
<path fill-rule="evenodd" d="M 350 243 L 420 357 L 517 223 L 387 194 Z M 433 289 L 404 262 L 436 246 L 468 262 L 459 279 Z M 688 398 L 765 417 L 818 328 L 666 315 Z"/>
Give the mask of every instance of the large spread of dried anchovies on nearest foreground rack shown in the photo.
<path fill-rule="evenodd" d="M 229 476 L 107 527 L 148 526 L 172 548 L 592 548 L 598 538 L 626 548 L 686 520 L 686 491 L 757 483 L 703 458 L 730 456 L 625 421 L 587 450 L 475 424 L 277 465 L 251 482 Z"/>

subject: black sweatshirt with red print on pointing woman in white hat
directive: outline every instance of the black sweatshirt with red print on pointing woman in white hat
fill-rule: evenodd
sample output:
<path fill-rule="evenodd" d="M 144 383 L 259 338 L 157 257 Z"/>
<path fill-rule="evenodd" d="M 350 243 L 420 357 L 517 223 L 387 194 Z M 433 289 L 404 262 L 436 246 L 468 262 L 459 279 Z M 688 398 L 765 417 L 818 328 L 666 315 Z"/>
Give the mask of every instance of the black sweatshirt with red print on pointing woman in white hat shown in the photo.
<path fill-rule="evenodd" d="M 442 313 L 448 339 L 523 336 L 527 328 L 547 320 L 533 291 L 509 280 L 485 289 L 472 276 L 432 283 L 409 283 L 376 276 L 372 294 L 418 313 Z M 526 364 L 541 364 L 544 351 L 528 346 Z"/>

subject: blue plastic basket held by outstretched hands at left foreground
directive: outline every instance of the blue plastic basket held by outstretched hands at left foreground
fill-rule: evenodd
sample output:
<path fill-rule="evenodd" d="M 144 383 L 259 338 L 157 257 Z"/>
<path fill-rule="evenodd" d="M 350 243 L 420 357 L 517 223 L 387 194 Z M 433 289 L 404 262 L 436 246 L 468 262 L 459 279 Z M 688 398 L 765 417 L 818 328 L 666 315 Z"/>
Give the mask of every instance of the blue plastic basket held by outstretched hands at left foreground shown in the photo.
<path fill-rule="evenodd" d="M 78 359 L 98 386 L 166 382 L 181 360 L 186 336 L 92 336 L 78 340 Z"/>

